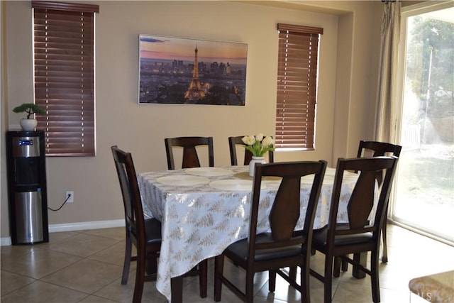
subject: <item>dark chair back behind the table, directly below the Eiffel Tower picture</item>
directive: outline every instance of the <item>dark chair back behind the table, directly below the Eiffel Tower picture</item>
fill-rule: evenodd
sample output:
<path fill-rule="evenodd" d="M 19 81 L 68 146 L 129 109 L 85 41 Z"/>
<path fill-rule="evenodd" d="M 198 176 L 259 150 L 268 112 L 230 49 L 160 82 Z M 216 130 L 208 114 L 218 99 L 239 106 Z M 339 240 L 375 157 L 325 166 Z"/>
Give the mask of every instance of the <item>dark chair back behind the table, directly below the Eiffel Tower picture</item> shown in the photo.
<path fill-rule="evenodd" d="M 165 138 L 165 153 L 167 155 L 167 167 L 175 170 L 173 148 L 183 148 L 182 168 L 200 167 L 199 156 L 196 147 L 206 145 L 208 148 L 208 164 L 214 166 L 213 137 L 177 137 Z"/>

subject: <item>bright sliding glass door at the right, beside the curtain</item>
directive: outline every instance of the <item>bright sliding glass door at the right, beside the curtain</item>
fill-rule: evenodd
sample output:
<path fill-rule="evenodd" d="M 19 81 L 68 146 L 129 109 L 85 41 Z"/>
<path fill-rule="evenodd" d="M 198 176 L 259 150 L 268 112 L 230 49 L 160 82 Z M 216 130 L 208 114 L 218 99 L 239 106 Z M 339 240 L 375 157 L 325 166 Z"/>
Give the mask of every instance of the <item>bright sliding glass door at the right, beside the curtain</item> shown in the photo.
<path fill-rule="evenodd" d="M 401 27 L 403 149 L 392 219 L 454 244 L 453 2 L 403 9 Z"/>

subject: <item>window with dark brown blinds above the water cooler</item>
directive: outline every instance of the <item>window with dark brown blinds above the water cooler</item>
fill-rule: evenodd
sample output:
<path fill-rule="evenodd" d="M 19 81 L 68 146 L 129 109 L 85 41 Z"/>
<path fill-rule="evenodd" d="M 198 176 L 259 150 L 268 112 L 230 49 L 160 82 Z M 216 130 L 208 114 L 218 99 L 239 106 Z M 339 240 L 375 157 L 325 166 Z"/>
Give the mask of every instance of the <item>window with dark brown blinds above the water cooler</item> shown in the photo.
<path fill-rule="evenodd" d="M 48 156 L 94 156 L 94 13 L 99 6 L 32 1 L 35 103 Z"/>

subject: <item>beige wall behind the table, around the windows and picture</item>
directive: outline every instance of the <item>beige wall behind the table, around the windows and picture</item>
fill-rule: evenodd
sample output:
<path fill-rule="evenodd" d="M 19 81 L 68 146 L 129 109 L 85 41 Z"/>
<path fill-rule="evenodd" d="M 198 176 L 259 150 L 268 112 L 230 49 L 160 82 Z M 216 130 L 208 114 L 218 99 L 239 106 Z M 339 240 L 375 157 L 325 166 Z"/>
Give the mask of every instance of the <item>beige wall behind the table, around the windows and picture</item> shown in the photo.
<path fill-rule="evenodd" d="M 2 33 L 2 42 L 6 42 L 8 69 L 1 79 L 8 90 L 2 98 L 11 109 L 33 101 L 32 12 L 30 1 L 3 3 L 6 35 Z M 285 9 L 232 1 L 90 3 L 99 4 L 100 9 L 96 16 L 97 152 L 92 158 L 47 158 L 49 206 L 57 208 L 65 191 L 74 191 L 74 203 L 49 211 L 50 226 L 123 219 L 111 145 L 131 151 L 136 170 L 144 172 L 166 169 L 165 137 L 213 136 L 215 165 L 228 165 L 228 136 L 273 135 L 276 23 L 319 26 L 324 34 L 316 150 L 277 153 L 275 160 L 326 159 L 335 165 L 336 158 L 355 155 L 360 139 L 372 138 L 380 1 L 304 1 L 317 6 L 318 12 L 305 11 L 303 6 Z M 248 43 L 246 105 L 138 105 L 139 34 Z M 6 115 L 6 127 L 17 129 L 21 116 L 11 110 Z M 4 153 L 1 157 L 4 177 Z M 1 185 L 1 238 L 7 238 L 3 180 Z"/>

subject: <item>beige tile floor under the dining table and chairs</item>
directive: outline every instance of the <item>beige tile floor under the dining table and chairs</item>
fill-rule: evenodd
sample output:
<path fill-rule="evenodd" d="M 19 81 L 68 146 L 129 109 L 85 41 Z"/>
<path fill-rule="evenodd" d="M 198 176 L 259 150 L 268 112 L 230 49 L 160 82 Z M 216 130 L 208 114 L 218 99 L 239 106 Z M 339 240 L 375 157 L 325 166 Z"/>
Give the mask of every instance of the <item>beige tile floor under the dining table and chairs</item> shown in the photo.
<path fill-rule="evenodd" d="M 410 294 L 413 277 L 454 269 L 454 247 L 419 236 L 398 226 L 388 227 L 389 262 L 380 265 L 382 302 L 426 302 Z M 135 266 L 131 266 L 128 285 L 121 285 L 123 265 L 123 228 L 50 233 L 49 243 L 34 246 L 1 247 L 2 303 L 31 302 L 131 302 Z M 214 302 L 213 262 L 209 267 L 209 294 L 199 297 L 196 277 L 184 279 L 184 302 Z M 312 257 L 313 268 L 323 270 L 323 255 Z M 233 265 L 232 275 L 243 274 Z M 226 271 L 228 271 L 226 270 Z M 256 275 L 255 302 L 300 302 L 300 294 L 277 278 L 276 292 L 267 291 L 267 274 Z M 166 302 L 145 282 L 143 302 Z M 226 287 L 222 302 L 239 302 Z M 311 277 L 311 302 L 323 302 L 323 285 Z M 372 302 L 370 277 L 357 280 L 348 272 L 333 279 L 333 302 Z"/>

